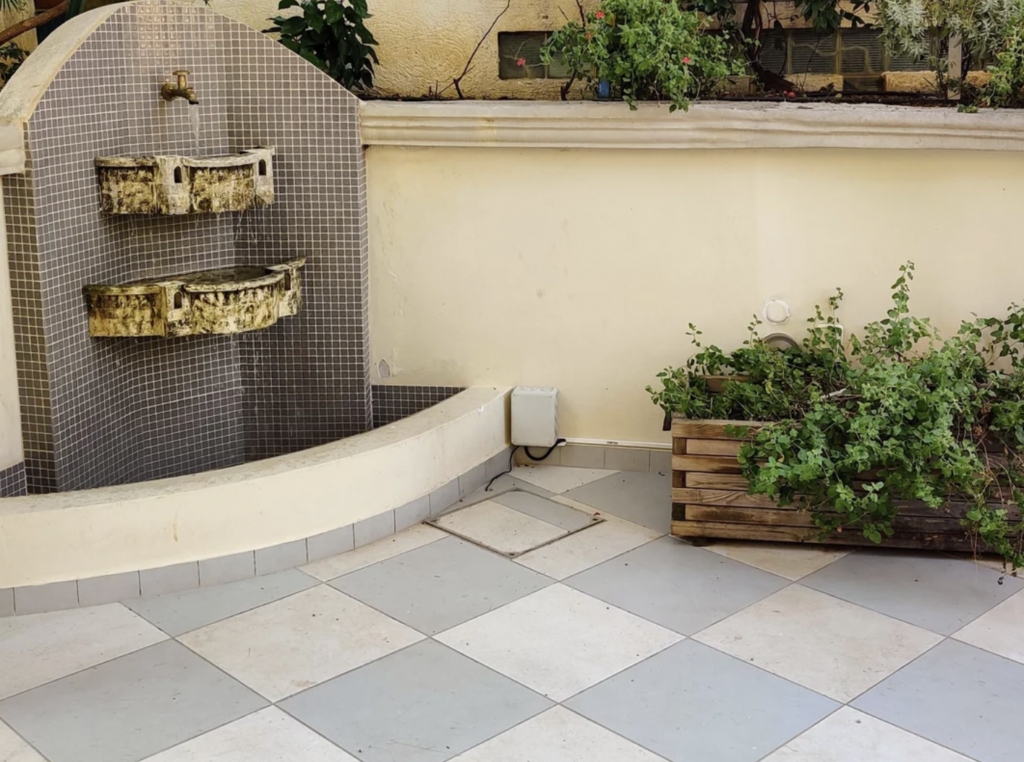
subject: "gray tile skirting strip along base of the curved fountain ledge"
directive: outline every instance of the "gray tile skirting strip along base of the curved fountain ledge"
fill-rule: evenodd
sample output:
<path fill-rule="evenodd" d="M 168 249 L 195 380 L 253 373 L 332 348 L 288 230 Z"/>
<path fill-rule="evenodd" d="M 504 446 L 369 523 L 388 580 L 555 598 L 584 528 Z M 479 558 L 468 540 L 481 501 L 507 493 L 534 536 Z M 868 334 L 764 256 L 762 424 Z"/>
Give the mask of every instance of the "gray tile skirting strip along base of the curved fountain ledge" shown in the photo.
<path fill-rule="evenodd" d="M 87 580 L 0 589 L 0 617 L 115 603 L 270 575 L 377 542 L 440 514 L 508 469 L 509 450 L 394 510 L 269 548 Z"/>

